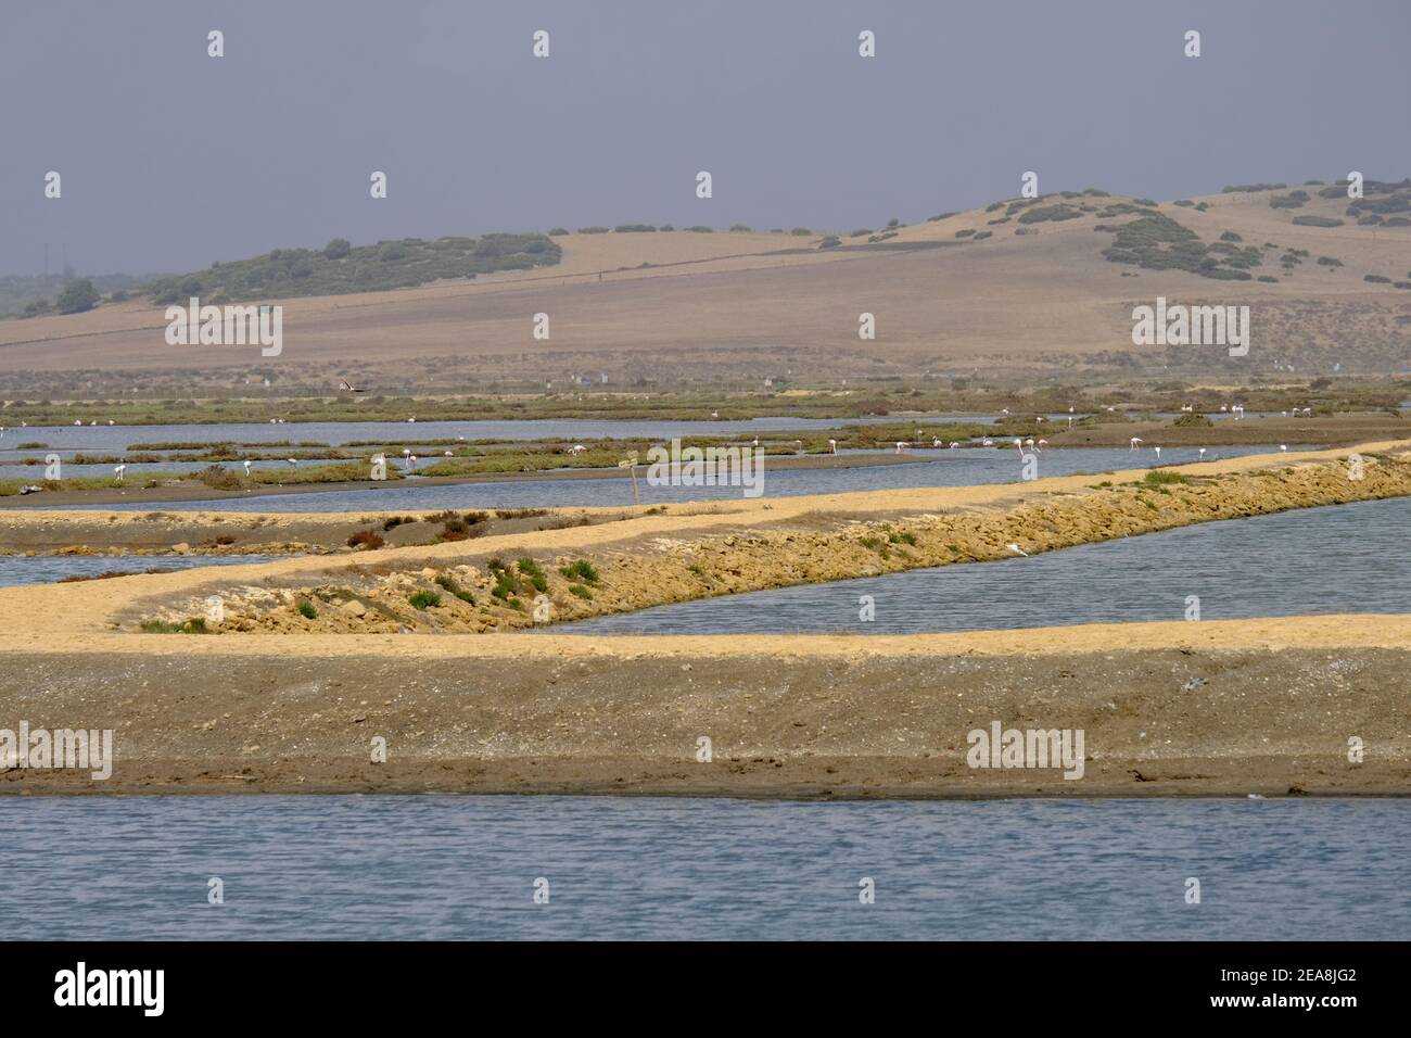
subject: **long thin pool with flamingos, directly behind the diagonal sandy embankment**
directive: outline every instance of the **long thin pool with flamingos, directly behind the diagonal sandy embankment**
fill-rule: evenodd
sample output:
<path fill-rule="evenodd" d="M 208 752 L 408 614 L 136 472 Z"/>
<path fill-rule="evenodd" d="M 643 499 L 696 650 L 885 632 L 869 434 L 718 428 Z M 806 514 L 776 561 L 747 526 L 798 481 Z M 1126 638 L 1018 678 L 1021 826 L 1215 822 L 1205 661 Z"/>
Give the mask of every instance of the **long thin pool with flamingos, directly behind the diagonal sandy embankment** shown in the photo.
<path fill-rule="evenodd" d="M 1315 448 L 1305 448 L 1315 449 Z M 1206 451 L 1205 460 L 1239 458 L 1278 451 L 1278 445 L 1222 446 Z M 1291 448 L 1290 453 L 1295 453 Z M 914 465 L 876 465 L 856 469 L 770 469 L 765 460 L 765 497 L 799 494 L 835 494 L 852 490 L 889 490 L 895 487 L 955 487 L 979 483 L 1017 483 L 1020 458 L 1013 448 L 971 448 L 955 451 L 916 451 Z M 1038 476 L 1071 476 L 1113 469 L 1141 469 L 1157 465 L 1184 465 L 1199 460 L 1195 448 L 1164 449 L 1160 462 L 1153 451 L 1126 448 L 1050 449 L 1038 455 Z M 741 497 L 739 487 L 670 487 L 648 486 L 646 467 L 638 467 L 638 487 L 643 504 L 670 504 Z M 617 479 L 545 479 L 518 483 L 460 483 L 433 486 L 389 486 L 378 490 L 339 490 L 281 494 L 275 497 L 227 499 L 219 501 L 175 501 L 141 504 L 69 506 L 72 508 L 161 508 L 162 511 L 381 511 L 422 508 L 545 508 L 591 504 L 631 504 L 629 476 Z M 35 500 L 34 507 L 42 507 Z"/>

